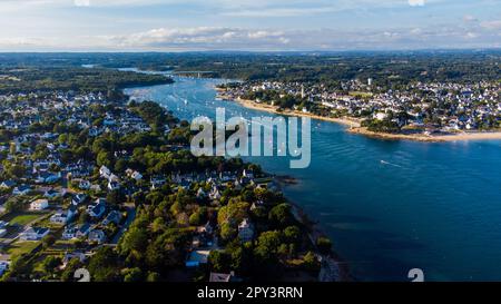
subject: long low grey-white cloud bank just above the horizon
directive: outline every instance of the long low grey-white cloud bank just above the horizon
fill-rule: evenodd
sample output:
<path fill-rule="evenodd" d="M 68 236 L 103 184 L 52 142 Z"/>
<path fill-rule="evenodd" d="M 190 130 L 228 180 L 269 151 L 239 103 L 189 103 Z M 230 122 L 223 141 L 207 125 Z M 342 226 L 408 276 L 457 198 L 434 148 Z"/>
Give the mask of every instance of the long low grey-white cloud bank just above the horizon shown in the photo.
<path fill-rule="evenodd" d="M 101 41 L 125 50 L 353 50 L 494 47 L 499 37 L 460 24 L 391 30 L 198 27 L 158 28 Z"/>

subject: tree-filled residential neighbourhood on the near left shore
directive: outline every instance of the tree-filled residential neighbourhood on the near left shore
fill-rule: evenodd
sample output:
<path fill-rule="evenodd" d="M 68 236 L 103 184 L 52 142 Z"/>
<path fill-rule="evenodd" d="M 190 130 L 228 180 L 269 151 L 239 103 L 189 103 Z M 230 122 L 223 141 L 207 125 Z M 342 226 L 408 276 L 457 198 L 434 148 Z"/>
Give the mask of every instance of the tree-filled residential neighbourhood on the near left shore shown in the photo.
<path fill-rule="evenodd" d="M 342 280 L 330 239 L 273 176 L 196 158 L 189 136 L 150 101 L 0 96 L 0 277 L 75 281 L 87 268 L 98 282 Z"/>

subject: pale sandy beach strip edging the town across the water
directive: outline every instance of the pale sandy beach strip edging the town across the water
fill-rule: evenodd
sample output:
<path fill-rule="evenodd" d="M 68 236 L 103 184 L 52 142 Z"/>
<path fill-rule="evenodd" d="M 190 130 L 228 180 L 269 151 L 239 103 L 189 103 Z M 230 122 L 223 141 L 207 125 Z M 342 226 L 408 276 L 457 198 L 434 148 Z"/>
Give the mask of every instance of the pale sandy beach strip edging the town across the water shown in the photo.
<path fill-rule="evenodd" d="M 310 112 L 302 112 L 297 110 L 284 110 L 277 111 L 277 108 L 267 104 L 258 104 L 253 100 L 242 99 L 242 98 L 229 98 L 224 96 L 222 92 L 224 90 L 217 89 L 219 92 L 219 98 L 226 101 L 234 101 L 239 104 L 240 106 L 258 110 L 266 111 L 276 115 L 284 116 L 295 116 L 295 117 L 310 117 L 312 119 L 323 120 L 335 122 L 340 125 L 344 125 L 350 127 L 346 129 L 347 133 L 354 135 L 362 135 L 371 138 L 377 138 L 383 140 L 411 140 L 411 141 L 421 141 L 421 143 L 450 143 L 450 141 L 469 141 L 469 140 L 501 140 L 501 130 L 493 131 L 461 131 L 461 133 L 451 133 L 451 134 L 440 134 L 440 135 L 424 135 L 424 134 L 389 134 L 389 133 L 376 133 L 367 130 L 367 128 L 361 127 L 361 119 L 356 118 L 333 118 L 333 117 L 324 117 L 320 115 L 314 115 Z"/>

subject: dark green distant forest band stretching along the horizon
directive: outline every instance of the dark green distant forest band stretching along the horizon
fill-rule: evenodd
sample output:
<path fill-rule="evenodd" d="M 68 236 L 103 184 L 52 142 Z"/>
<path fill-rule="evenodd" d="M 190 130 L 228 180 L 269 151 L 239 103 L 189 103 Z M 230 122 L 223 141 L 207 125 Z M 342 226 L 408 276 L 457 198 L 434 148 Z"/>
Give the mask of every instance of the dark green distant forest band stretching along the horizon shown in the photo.
<path fill-rule="evenodd" d="M 326 86 L 356 78 L 373 78 L 377 86 L 392 87 L 411 81 L 474 82 L 501 79 L 499 50 L 0 55 L 0 75 L 6 73 L 6 69 L 29 67 L 50 68 L 55 69 L 53 73 L 58 73 L 61 70 L 58 71 L 57 68 L 79 68 L 82 65 L 101 68 L 137 67 L 181 75 L 187 71 L 204 71 L 204 77 L 313 81 Z M 101 70 L 97 69 L 95 72 Z M 134 77 L 117 81 L 114 73 L 105 79 L 119 86 L 137 81 Z"/>

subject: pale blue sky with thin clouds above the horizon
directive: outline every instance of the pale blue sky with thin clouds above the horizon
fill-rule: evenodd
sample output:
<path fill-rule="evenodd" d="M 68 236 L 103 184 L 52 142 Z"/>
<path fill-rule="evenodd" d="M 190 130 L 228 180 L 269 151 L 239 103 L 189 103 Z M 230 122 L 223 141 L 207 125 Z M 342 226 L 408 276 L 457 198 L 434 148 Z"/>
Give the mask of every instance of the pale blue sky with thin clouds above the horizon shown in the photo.
<path fill-rule="evenodd" d="M 0 0 L 0 51 L 501 48 L 501 0 Z"/>

